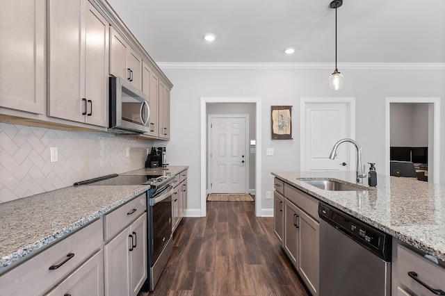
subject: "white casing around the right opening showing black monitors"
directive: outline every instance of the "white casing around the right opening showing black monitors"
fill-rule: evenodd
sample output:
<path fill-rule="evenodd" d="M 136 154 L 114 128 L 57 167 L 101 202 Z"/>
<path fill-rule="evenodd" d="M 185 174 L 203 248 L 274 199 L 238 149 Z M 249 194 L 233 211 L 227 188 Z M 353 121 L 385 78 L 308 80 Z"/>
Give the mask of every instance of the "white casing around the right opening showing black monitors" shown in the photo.
<path fill-rule="evenodd" d="M 386 98 L 386 174 L 390 175 L 390 149 L 391 149 L 391 105 L 392 104 L 426 104 L 428 105 L 428 181 L 440 183 L 440 99 L 439 98 Z M 392 105 L 394 106 L 394 105 Z M 393 122 L 394 123 L 394 122 Z M 407 127 L 409 128 L 409 126 Z M 407 131 L 410 132 L 410 131 Z M 401 131 L 403 133 L 403 131 Z M 392 139 L 394 142 L 394 139 Z"/>

